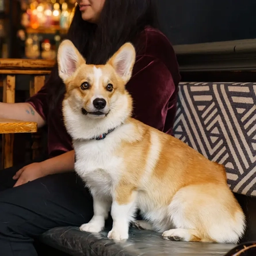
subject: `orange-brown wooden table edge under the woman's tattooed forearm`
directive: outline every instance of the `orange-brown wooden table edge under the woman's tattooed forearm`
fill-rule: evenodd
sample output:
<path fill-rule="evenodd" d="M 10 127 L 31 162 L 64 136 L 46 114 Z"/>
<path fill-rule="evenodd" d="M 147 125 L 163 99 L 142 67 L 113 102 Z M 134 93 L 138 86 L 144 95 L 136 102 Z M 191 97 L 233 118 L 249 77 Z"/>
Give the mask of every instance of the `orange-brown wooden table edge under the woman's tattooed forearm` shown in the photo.
<path fill-rule="evenodd" d="M 13 119 L 0 119 L 0 133 L 37 132 L 37 123 Z"/>

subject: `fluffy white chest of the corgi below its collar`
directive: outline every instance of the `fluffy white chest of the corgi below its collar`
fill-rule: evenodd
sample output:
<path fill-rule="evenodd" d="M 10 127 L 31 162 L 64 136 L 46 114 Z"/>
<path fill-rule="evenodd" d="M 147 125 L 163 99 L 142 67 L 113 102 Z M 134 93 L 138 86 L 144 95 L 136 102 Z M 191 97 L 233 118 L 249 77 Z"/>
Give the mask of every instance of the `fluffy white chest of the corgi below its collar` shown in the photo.
<path fill-rule="evenodd" d="M 121 159 L 113 156 L 114 145 L 101 142 L 75 142 L 75 171 L 90 189 L 110 194 L 118 178 Z"/>

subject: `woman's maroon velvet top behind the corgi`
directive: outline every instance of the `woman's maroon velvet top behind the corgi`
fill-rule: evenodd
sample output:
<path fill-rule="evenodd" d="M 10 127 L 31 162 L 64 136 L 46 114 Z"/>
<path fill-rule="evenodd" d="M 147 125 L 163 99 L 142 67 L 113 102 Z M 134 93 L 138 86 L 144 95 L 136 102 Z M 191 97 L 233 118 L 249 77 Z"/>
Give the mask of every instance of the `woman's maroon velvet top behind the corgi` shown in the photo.
<path fill-rule="evenodd" d="M 173 47 L 167 37 L 154 28 L 144 29 L 139 42 L 142 47 L 127 84 L 134 101 L 133 117 L 172 134 L 180 80 Z M 48 153 L 53 157 L 72 150 L 72 142 L 63 123 L 62 101 L 54 113 L 49 113 L 47 91 L 44 86 L 27 102 L 47 122 Z"/>

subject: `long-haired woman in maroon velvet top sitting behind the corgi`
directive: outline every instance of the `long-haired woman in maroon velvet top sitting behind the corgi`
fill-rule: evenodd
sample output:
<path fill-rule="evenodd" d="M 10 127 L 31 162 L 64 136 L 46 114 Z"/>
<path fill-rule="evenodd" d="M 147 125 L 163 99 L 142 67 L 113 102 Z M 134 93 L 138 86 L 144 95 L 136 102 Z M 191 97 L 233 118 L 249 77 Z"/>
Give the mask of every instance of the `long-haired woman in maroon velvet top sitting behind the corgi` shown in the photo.
<path fill-rule="evenodd" d="M 137 51 L 127 85 L 134 100 L 133 116 L 171 134 L 180 77 L 173 48 L 155 29 L 154 10 L 153 0 L 78 0 L 67 37 L 93 64 L 106 63 L 131 41 Z M 74 151 L 62 119 L 63 94 L 55 67 L 45 86 L 27 102 L 0 104 L 0 117 L 48 126 L 47 159 L 0 172 L 2 256 L 37 255 L 37 236 L 53 227 L 80 226 L 93 214 L 89 192 L 72 172 Z"/>

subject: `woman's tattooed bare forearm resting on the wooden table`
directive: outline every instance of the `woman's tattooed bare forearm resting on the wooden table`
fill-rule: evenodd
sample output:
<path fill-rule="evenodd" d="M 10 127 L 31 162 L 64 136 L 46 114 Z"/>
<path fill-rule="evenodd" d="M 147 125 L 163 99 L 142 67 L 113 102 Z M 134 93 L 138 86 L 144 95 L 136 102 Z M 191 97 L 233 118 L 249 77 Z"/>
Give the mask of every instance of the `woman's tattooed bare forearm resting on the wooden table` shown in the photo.
<path fill-rule="evenodd" d="M 17 119 L 36 122 L 38 127 L 45 125 L 44 119 L 29 103 L 3 103 L 0 102 L 0 118 Z"/>

